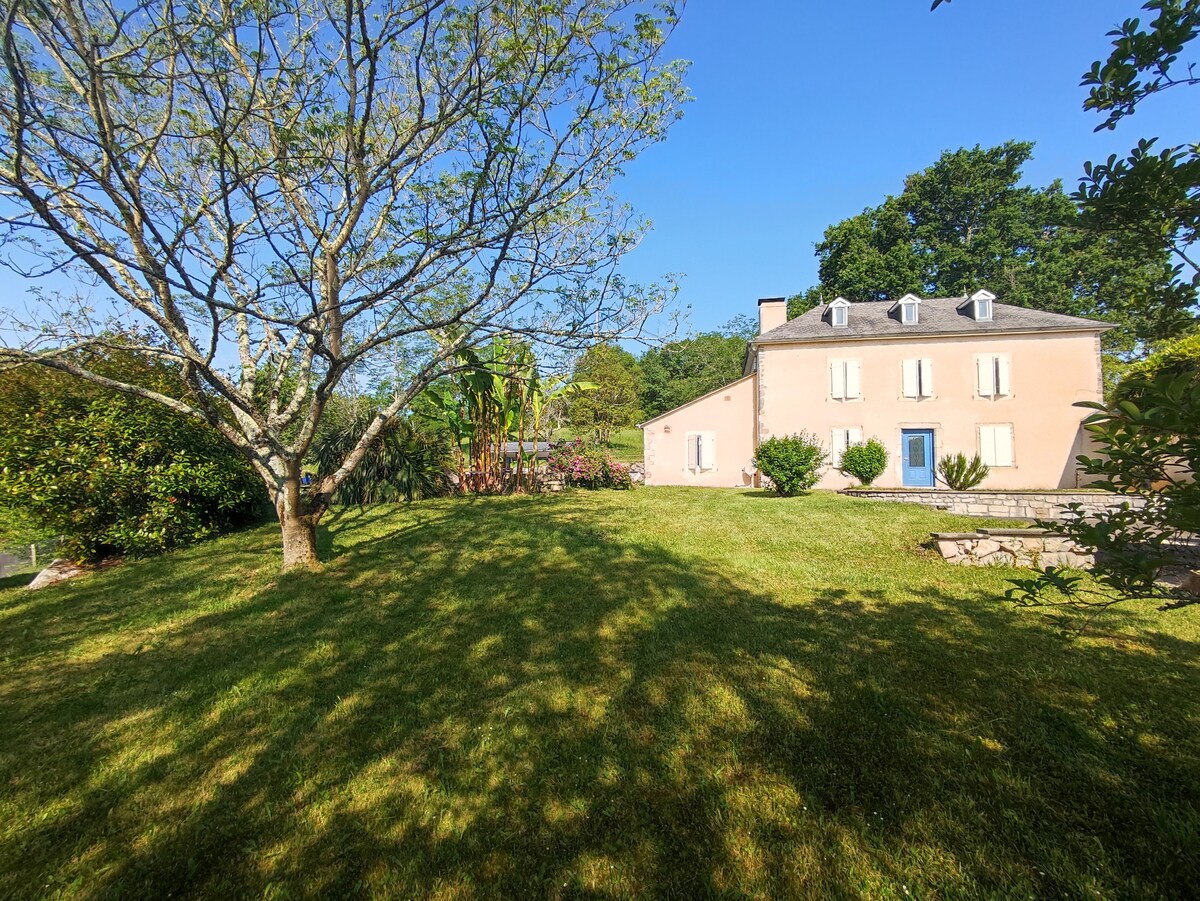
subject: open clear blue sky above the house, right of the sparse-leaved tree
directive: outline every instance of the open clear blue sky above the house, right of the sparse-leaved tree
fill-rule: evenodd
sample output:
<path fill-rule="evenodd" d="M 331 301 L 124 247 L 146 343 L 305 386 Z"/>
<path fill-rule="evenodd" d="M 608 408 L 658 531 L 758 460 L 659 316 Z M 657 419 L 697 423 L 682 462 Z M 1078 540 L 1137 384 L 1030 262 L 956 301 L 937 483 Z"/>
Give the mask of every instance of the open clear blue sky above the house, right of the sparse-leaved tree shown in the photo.
<path fill-rule="evenodd" d="M 1144 104 L 1116 132 L 1080 76 L 1142 0 L 689 0 L 674 55 L 695 101 L 622 193 L 654 223 L 636 280 L 680 272 L 690 325 L 755 314 L 815 284 L 827 226 L 898 193 L 942 150 L 1033 140 L 1026 180 L 1074 190 L 1086 160 L 1140 137 L 1195 140 L 1200 90 Z"/>

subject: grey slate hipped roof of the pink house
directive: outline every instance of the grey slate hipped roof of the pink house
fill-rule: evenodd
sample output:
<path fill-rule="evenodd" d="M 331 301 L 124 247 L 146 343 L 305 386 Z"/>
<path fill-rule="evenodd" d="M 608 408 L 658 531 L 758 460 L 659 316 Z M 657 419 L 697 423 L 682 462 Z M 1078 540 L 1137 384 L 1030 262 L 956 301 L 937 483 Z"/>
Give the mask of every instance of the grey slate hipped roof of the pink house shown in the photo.
<path fill-rule="evenodd" d="M 971 318 L 971 305 L 966 300 L 966 298 L 923 298 L 916 325 L 904 325 L 896 314 L 888 313 L 895 301 L 851 304 L 848 323 L 839 329 L 833 328 L 826 318 L 828 305 L 821 305 L 760 335 L 752 343 L 996 335 L 1012 331 L 1104 331 L 1112 328 L 1096 319 L 1048 313 L 1044 310 L 1028 310 L 996 301 L 992 301 L 992 318 L 977 322 Z"/>

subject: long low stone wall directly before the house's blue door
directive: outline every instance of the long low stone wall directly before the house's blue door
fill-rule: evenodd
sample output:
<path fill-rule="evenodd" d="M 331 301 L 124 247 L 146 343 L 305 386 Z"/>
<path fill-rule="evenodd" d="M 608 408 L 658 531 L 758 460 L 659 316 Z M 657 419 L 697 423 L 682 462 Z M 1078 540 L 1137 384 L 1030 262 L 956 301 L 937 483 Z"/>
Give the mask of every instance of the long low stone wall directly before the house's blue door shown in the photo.
<path fill-rule="evenodd" d="M 846 488 L 852 498 L 898 500 L 906 504 L 946 510 L 961 516 L 988 516 L 1002 519 L 1063 519 L 1067 504 L 1080 504 L 1085 516 L 1097 516 L 1121 504 L 1141 506 L 1141 498 L 1126 498 L 1103 491 L 898 491 L 886 488 Z"/>

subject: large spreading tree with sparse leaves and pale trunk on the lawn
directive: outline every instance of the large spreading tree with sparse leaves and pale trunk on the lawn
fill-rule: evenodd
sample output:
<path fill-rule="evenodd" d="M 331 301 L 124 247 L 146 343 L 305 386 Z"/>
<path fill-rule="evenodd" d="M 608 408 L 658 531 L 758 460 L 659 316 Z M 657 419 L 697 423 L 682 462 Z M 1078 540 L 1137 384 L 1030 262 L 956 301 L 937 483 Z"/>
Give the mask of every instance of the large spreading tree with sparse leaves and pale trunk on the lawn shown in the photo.
<path fill-rule="evenodd" d="M 498 332 L 638 330 L 665 289 L 614 265 L 611 193 L 685 100 L 674 20 L 632 0 L 5 0 L 7 262 L 91 280 L 40 310 L 41 365 L 212 424 L 253 463 L 284 569 L 386 424 Z M 653 14 L 652 14 L 653 13 Z M 98 304 L 98 306 L 97 306 Z M 175 395 L 89 371 L 107 305 L 162 338 Z M 102 326 L 103 324 L 101 324 Z M 109 329 L 109 331 L 112 331 Z M 29 335 L 29 332 L 25 332 Z M 311 491 L 343 377 L 397 388 Z"/>

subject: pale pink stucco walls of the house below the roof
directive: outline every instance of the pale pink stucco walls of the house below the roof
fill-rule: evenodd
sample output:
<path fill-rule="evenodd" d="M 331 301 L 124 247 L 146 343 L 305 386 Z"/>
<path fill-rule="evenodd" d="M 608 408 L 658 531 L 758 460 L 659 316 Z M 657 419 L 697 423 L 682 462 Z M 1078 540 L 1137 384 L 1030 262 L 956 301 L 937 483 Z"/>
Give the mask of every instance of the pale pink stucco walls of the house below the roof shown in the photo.
<path fill-rule="evenodd" d="M 1074 404 L 1100 398 L 1094 328 L 862 340 L 830 332 L 829 341 L 761 343 L 750 376 L 646 424 L 647 483 L 750 485 L 760 442 L 806 431 L 830 453 L 847 440 L 878 439 L 889 462 L 875 485 L 904 487 L 906 430 L 932 432 L 934 459 L 956 452 L 991 455 L 986 488 L 1080 483 L 1074 459 L 1086 450 L 1081 422 L 1088 410 Z M 1003 368 L 1003 392 L 997 386 L 992 396 L 980 396 L 980 372 L 990 373 L 992 366 Z M 832 386 L 834 371 L 839 374 Z M 845 389 L 847 378 L 852 390 Z M 835 397 L 836 391 L 852 396 Z M 712 467 L 696 465 L 709 462 L 697 461 L 688 443 L 696 433 L 712 436 Z M 829 465 L 818 487 L 851 483 Z"/>

